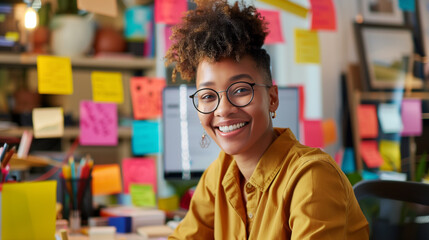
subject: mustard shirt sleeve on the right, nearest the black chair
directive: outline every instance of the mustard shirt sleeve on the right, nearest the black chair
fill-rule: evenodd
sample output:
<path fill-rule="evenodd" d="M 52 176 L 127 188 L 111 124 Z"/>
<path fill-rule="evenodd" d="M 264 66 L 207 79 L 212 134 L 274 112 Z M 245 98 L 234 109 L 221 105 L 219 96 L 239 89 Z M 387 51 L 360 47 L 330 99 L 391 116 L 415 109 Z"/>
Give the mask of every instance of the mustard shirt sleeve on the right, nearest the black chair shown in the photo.
<path fill-rule="evenodd" d="M 332 164 L 327 159 L 310 159 L 297 169 L 289 209 L 292 240 L 348 239 L 351 185 Z M 359 217 L 363 215 L 352 217 L 353 221 L 366 221 Z M 353 239 L 368 239 L 367 234 L 362 229 Z"/>

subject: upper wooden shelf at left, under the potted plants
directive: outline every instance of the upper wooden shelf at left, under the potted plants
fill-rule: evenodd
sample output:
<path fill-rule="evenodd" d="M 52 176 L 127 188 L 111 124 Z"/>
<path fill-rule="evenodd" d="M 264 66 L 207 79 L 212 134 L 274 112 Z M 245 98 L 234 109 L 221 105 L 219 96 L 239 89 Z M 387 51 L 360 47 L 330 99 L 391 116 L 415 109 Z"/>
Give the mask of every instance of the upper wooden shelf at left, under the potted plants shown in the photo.
<path fill-rule="evenodd" d="M 153 58 L 138 57 L 77 57 L 71 58 L 72 67 L 112 70 L 143 70 L 155 68 Z M 37 55 L 0 53 L 0 65 L 36 67 Z"/>

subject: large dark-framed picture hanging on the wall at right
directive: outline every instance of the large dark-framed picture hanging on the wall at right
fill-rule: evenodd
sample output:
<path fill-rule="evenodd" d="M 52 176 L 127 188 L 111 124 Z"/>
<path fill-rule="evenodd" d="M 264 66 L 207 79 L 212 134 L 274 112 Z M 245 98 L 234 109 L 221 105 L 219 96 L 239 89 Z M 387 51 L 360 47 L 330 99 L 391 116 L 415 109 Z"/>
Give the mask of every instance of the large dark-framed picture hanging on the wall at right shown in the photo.
<path fill-rule="evenodd" d="M 414 77 L 413 32 L 408 26 L 355 23 L 365 90 L 422 89 Z"/>

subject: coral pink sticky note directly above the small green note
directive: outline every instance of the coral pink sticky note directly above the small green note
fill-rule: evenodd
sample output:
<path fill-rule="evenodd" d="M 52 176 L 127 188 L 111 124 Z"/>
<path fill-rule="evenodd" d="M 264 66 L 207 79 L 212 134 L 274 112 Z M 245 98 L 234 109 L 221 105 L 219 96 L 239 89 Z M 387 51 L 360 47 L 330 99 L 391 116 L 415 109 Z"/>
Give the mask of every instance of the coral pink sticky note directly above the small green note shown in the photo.
<path fill-rule="evenodd" d="M 132 183 L 144 183 L 152 185 L 157 191 L 156 165 L 152 158 L 126 158 L 122 160 L 122 175 L 124 179 L 124 192 L 130 192 Z"/>

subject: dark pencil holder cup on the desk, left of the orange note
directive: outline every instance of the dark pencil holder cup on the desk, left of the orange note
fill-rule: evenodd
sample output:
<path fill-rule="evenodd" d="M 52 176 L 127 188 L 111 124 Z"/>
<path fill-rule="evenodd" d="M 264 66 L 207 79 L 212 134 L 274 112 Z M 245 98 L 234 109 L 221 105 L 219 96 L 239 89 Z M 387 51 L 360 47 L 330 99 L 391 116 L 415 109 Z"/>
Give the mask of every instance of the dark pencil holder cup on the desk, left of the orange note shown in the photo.
<path fill-rule="evenodd" d="M 72 212 L 79 212 L 81 224 L 88 225 L 92 216 L 92 178 L 61 180 L 63 218 L 70 219 Z"/>

